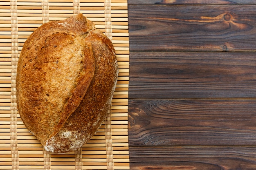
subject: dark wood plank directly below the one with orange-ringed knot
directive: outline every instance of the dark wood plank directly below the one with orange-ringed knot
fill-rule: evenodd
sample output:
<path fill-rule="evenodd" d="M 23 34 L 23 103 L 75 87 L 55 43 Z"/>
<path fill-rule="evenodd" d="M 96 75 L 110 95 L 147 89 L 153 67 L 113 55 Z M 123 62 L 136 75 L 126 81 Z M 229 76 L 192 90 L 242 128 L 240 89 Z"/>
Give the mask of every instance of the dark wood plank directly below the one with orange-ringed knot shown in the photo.
<path fill-rule="evenodd" d="M 129 97 L 255 98 L 256 53 L 131 53 Z"/>

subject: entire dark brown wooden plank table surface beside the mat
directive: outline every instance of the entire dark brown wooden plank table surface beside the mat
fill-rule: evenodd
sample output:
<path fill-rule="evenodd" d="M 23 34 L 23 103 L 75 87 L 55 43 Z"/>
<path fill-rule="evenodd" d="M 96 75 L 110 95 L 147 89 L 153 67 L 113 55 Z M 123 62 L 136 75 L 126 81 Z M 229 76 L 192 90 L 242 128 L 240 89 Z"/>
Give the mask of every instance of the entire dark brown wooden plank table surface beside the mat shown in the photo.
<path fill-rule="evenodd" d="M 256 169 L 256 1 L 128 0 L 131 170 Z"/>

